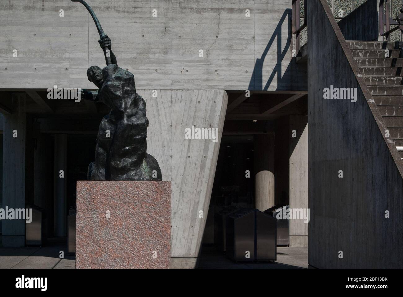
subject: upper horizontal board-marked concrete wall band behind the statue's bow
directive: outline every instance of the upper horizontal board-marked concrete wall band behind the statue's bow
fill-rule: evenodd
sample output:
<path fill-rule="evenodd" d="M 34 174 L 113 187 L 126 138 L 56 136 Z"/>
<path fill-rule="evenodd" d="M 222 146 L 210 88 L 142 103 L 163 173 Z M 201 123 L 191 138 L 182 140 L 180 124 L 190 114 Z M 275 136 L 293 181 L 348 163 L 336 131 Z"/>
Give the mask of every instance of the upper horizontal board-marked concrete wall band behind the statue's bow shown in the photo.
<path fill-rule="evenodd" d="M 306 66 L 290 63 L 291 1 L 87 2 L 137 88 L 306 90 Z M 0 28 L 1 88 L 94 87 L 86 70 L 104 58 L 83 5 L 2 1 Z"/>

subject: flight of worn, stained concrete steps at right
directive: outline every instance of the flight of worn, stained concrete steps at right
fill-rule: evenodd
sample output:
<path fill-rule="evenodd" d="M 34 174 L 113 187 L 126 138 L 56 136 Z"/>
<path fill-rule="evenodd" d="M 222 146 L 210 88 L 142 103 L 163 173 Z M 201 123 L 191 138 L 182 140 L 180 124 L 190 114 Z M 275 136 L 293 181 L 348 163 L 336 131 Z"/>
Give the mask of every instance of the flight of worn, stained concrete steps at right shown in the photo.
<path fill-rule="evenodd" d="M 394 42 L 347 44 L 403 160 L 403 52 Z"/>

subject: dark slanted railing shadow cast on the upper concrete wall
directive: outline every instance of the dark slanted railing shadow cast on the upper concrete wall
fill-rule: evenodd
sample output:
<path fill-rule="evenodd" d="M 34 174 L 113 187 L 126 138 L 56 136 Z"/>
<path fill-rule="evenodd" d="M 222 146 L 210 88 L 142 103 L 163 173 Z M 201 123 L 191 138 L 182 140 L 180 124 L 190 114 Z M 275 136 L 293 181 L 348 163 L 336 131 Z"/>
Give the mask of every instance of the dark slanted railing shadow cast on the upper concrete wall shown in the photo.
<path fill-rule="evenodd" d="M 288 29 L 287 29 L 287 41 L 285 43 L 284 49 L 282 49 L 282 27 L 284 22 L 287 20 Z M 306 79 L 306 71 L 307 67 L 296 64 L 295 58 L 291 58 L 287 69 L 282 73 L 282 63 L 284 58 L 287 58 L 288 55 L 291 56 L 289 52 L 289 48 L 292 41 L 292 10 L 290 8 L 286 9 L 283 15 L 276 26 L 272 36 L 270 37 L 269 42 L 264 49 L 262 56 L 256 59 L 255 67 L 253 69 L 252 77 L 249 82 L 249 90 L 259 90 L 259 91 L 267 91 L 277 75 L 277 87 L 276 90 L 306 90 L 307 89 L 307 79 Z M 270 74 L 268 80 L 263 82 L 263 63 L 266 59 L 266 56 L 272 47 L 274 40 L 277 39 L 277 61 L 275 62 L 272 73 Z M 273 61 L 274 62 L 274 61 Z M 267 67 L 266 67 L 267 68 Z M 305 74 L 305 75 L 303 75 Z"/>

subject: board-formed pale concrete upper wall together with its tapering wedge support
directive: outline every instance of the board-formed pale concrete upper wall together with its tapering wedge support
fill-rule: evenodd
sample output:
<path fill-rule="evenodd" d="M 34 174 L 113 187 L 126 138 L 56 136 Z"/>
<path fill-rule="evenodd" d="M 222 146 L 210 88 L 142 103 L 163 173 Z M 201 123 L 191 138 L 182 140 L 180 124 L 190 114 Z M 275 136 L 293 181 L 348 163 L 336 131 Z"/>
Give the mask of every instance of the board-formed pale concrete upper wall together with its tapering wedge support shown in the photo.
<path fill-rule="evenodd" d="M 292 57 L 291 1 L 88 3 L 112 39 L 118 65 L 135 75 L 150 120 L 148 153 L 163 180 L 172 181 L 171 263 L 194 267 L 225 118 L 224 90 L 307 89 L 306 65 Z M 94 88 L 86 70 L 103 67 L 104 57 L 81 4 L 3 1 L 0 27 L 2 89 Z M 192 126 L 218 128 L 217 142 L 185 139 Z"/>

